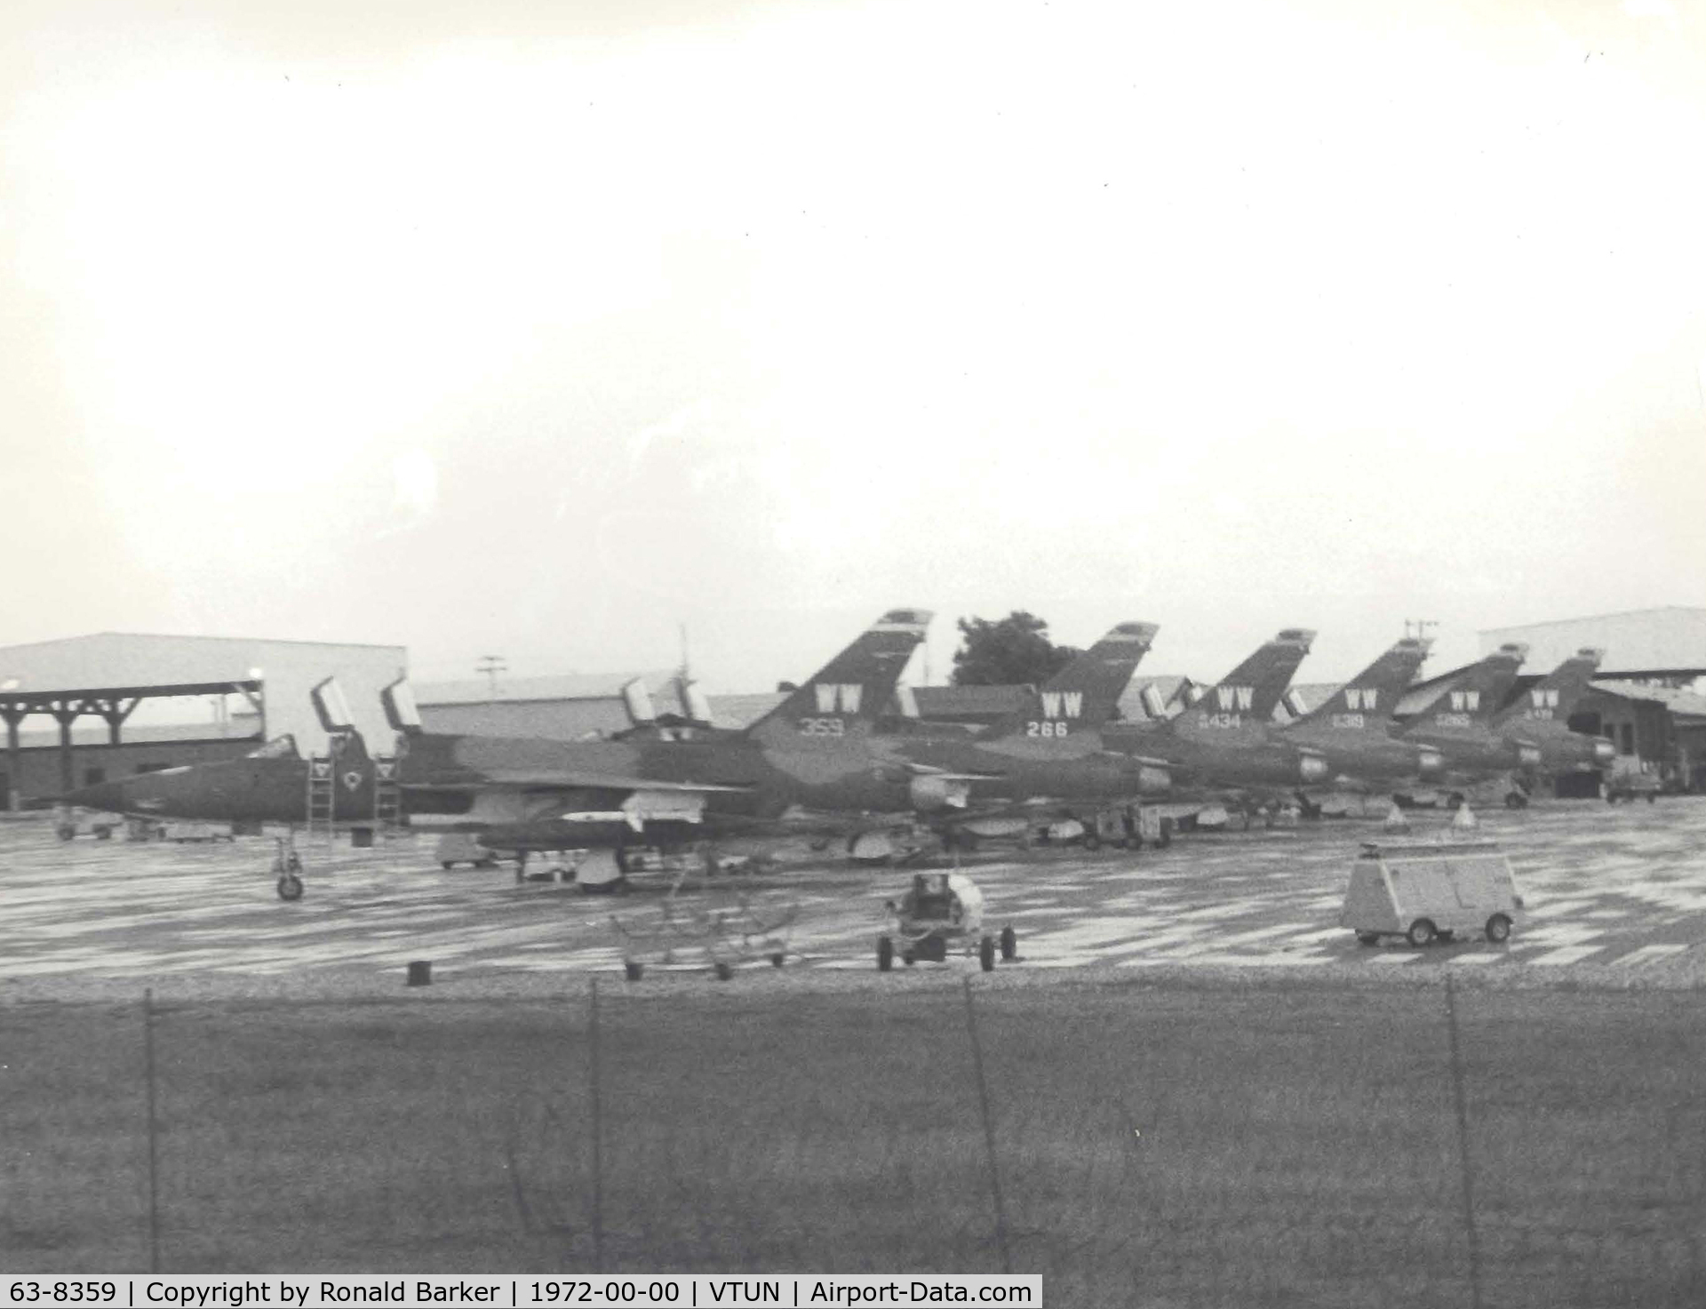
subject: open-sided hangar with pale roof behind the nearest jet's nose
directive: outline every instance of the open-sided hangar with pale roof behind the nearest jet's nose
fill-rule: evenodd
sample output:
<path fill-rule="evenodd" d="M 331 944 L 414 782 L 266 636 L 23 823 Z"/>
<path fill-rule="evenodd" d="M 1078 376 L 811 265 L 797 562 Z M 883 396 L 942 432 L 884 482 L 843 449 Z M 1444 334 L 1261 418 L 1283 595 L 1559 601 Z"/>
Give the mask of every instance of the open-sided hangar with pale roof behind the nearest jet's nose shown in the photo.
<path fill-rule="evenodd" d="M 0 717 L 7 754 L 0 800 L 29 799 L 123 773 L 230 758 L 259 741 L 290 734 L 304 754 L 326 749 L 326 730 L 309 691 L 329 676 L 350 701 L 368 741 L 387 741 L 379 693 L 406 672 L 401 645 L 333 645 L 242 637 L 159 637 L 102 631 L 92 637 L 0 647 Z M 126 729 L 145 701 L 181 696 L 242 696 L 254 707 L 247 727 Z M 80 720 L 94 718 L 90 724 Z M 46 725 L 48 734 L 24 727 Z M 56 727 L 56 730 L 53 730 Z"/>

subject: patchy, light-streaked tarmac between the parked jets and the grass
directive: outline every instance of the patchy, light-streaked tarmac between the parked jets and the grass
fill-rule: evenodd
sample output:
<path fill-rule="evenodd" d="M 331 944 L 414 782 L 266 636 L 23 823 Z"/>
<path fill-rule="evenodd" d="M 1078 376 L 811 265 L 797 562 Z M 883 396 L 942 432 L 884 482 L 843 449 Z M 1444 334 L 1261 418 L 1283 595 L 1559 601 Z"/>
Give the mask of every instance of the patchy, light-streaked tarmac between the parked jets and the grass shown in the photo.
<path fill-rule="evenodd" d="M 1414 812 L 1407 838 L 1378 821 L 1332 819 L 1249 833 L 1194 833 L 1169 850 L 1030 850 L 972 855 L 986 927 L 1012 925 L 1027 969 L 1145 966 L 1351 966 L 1406 973 L 1554 973 L 1575 964 L 1629 974 L 1706 976 L 1706 802 L 1541 802 L 1483 811 L 1476 833 Z M 1426 949 L 1358 945 L 1338 925 L 1361 841 L 1493 838 L 1527 901 L 1510 944 L 1479 937 Z M 669 898 L 648 874 L 623 898 L 573 882 L 519 884 L 508 865 L 444 870 L 428 835 L 375 850 L 304 846 L 307 894 L 273 893 L 271 838 L 210 845 L 133 843 L 114 835 L 60 841 L 51 821 L 0 824 L 0 998 L 51 997 L 55 983 L 191 976 L 285 978 L 324 969 L 401 976 L 428 959 L 445 974 L 619 969 L 621 930 L 645 937 L 648 964 L 705 968 L 706 944 L 732 963 L 873 969 L 882 903 L 904 869 L 815 867 L 688 882 Z M 947 867 L 935 860 L 935 867 Z M 543 862 L 536 858 L 534 869 Z M 674 927 L 659 935 L 665 905 Z M 742 937 L 747 915 L 792 922 Z M 705 932 L 708 913 L 727 925 Z M 647 935 L 652 934 L 652 935 Z M 1005 969 L 1003 969 L 1005 971 Z"/>

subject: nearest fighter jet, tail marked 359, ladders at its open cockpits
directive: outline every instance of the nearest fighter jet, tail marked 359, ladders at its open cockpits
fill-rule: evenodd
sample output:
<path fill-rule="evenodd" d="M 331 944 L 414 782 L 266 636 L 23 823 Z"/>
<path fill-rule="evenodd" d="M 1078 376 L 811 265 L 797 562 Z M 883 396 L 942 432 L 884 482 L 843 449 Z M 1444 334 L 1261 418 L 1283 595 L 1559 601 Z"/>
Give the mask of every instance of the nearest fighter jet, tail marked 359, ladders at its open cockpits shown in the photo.
<path fill-rule="evenodd" d="M 292 828 L 377 826 L 394 788 L 409 826 L 503 835 L 495 848 L 597 848 L 611 869 L 628 845 L 747 833 L 790 809 L 897 812 L 916 771 L 868 749 L 930 614 L 892 609 L 781 705 L 734 739 L 537 741 L 425 732 L 406 688 L 386 696 L 396 758 L 372 758 L 334 688 L 316 707 L 333 754 L 304 759 L 288 742 L 220 763 L 143 773 L 68 795 L 121 814 Z M 601 872 L 604 872 L 601 869 Z M 602 877 L 601 877 L 602 881 Z M 290 865 L 285 899 L 302 894 Z"/>

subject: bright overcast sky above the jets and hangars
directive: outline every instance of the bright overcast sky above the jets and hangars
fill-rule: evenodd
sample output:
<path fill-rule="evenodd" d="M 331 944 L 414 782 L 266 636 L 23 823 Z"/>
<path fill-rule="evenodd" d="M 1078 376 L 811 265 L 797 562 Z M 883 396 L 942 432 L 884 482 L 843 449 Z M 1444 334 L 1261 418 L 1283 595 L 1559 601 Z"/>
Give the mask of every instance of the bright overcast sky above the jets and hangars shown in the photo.
<path fill-rule="evenodd" d="M 1706 604 L 1697 7 L 12 0 L 0 131 L 0 643 Z"/>

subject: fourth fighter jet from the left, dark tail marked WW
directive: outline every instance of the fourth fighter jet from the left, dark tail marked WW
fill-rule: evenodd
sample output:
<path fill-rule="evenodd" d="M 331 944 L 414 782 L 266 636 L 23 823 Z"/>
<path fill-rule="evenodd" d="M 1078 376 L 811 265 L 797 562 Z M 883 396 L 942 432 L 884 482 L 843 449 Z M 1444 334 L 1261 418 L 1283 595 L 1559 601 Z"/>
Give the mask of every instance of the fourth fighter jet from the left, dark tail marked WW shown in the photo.
<path fill-rule="evenodd" d="M 1445 766 L 1440 751 L 1392 736 L 1392 710 L 1431 645 L 1426 637 L 1404 637 L 1320 708 L 1281 727 L 1278 736 L 1319 751 L 1334 785 L 1390 785 L 1433 777 Z"/>

